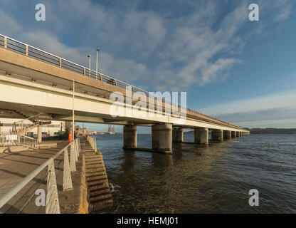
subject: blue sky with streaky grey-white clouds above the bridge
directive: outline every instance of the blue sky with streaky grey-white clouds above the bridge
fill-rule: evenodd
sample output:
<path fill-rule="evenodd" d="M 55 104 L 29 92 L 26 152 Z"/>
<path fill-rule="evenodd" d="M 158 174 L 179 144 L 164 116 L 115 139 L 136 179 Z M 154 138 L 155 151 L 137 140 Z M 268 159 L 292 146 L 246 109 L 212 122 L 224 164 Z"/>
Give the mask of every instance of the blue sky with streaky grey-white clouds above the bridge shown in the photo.
<path fill-rule="evenodd" d="M 100 47 L 108 76 L 187 92 L 189 108 L 241 127 L 296 128 L 295 9 L 292 0 L 0 0 L 0 33 L 83 66 L 91 54 L 93 69 Z"/>

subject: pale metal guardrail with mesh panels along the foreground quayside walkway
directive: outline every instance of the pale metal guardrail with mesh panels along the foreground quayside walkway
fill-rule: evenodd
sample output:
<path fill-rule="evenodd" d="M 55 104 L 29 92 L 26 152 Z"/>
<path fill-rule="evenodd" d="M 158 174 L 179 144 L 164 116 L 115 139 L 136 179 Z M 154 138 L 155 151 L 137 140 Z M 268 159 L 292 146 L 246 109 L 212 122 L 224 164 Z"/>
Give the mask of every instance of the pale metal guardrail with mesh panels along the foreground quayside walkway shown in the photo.
<path fill-rule="evenodd" d="M 68 148 L 70 147 L 70 162 L 68 159 Z M 46 185 L 46 214 L 60 214 L 60 204 L 58 202 L 58 188 L 56 185 L 56 172 L 54 160 L 61 154 L 64 154 L 64 167 L 63 167 L 63 191 L 73 190 L 71 172 L 76 171 L 75 162 L 78 161 L 80 154 L 80 140 L 76 139 L 56 155 L 49 158 L 46 162 L 40 165 L 36 170 L 31 172 L 28 176 L 18 182 L 8 192 L 0 197 L 0 208 L 3 207 L 9 200 L 14 197 L 20 190 L 25 187 L 28 182 L 33 180 L 42 170 L 47 167 L 47 185 Z"/>

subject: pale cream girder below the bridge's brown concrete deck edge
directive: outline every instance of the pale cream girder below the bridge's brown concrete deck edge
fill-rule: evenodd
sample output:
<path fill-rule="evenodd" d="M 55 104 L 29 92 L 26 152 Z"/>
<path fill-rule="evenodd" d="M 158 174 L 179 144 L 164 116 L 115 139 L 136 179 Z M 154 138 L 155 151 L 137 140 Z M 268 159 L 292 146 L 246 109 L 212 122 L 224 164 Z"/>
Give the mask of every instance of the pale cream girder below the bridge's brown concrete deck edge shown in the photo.
<path fill-rule="evenodd" d="M 44 85 L 43 83 L 30 81 L 29 78 L 12 78 L 12 76 L 6 76 L 3 72 L 0 72 L 0 82 L 0 108 L 1 110 L 7 110 L 6 115 L 1 115 L 0 112 L 0 116 L 7 118 L 9 117 L 7 113 L 14 111 L 12 115 L 15 118 L 47 113 L 52 116 L 53 120 L 72 120 L 73 91 L 70 89 Z M 68 86 L 70 88 L 71 82 Z M 80 88 L 80 85 L 78 85 L 78 88 Z M 157 113 L 157 110 L 154 110 L 154 116 L 149 117 L 149 110 L 146 108 L 140 110 L 137 113 L 138 115 L 132 115 L 134 106 L 125 103 L 118 105 L 124 113 L 113 118 L 110 115 L 110 108 L 112 105 L 114 106 L 114 103 L 110 99 L 79 93 L 75 90 L 75 121 L 140 126 L 151 126 L 154 123 L 171 123 L 182 128 L 242 131 L 189 117 L 180 119 L 174 116 L 166 116 L 162 115 L 163 113 Z M 2 113 L 5 112 L 2 111 Z"/>

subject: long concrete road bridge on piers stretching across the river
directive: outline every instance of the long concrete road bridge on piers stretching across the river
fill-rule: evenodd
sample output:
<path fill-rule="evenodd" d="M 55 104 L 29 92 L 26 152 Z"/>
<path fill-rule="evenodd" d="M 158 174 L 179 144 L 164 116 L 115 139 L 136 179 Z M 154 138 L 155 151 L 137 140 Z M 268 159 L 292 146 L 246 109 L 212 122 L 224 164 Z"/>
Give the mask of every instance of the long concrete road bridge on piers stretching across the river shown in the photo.
<path fill-rule="evenodd" d="M 139 100 L 144 105 L 139 105 Z M 124 147 L 130 149 L 137 147 L 137 126 L 152 127 L 152 150 L 162 152 L 171 152 L 172 142 L 183 142 L 184 129 L 194 129 L 194 142 L 202 144 L 208 143 L 209 131 L 212 140 L 218 142 L 249 134 L 238 126 L 0 35 L 1 117 L 44 114 L 51 120 L 70 121 L 73 108 L 75 121 L 124 125 Z M 110 110 L 122 112 L 115 117 Z"/>

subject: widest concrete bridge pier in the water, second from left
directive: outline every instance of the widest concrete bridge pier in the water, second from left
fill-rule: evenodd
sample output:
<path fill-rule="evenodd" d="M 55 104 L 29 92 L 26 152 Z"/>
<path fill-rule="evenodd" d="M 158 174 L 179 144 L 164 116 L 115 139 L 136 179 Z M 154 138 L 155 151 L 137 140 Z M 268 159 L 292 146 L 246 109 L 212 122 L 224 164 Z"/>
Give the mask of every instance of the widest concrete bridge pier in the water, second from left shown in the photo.
<path fill-rule="evenodd" d="M 152 149 L 160 152 L 171 153 L 172 125 L 152 125 Z"/>

